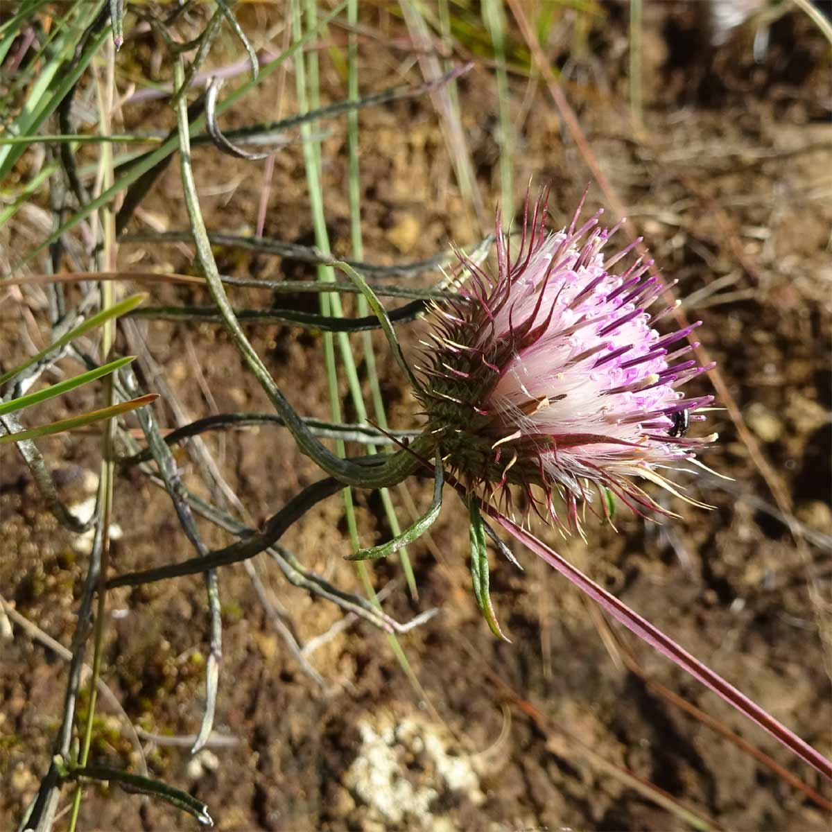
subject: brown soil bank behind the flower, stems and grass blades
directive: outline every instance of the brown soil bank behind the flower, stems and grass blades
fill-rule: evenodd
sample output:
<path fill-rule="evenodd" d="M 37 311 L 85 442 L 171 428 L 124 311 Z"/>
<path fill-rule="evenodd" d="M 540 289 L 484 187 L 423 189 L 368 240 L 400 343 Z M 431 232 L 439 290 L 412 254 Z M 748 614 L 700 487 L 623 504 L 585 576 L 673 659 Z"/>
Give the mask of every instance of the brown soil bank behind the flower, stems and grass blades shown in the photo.
<path fill-rule="evenodd" d="M 832 699 L 820 629 L 830 635 L 830 201 L 832 170 L 829 46 L 808 20 L 791 13 L 772 27 L 765 61 L 756 65 L 747 33 L 725 47 L 702 47 L 696 4 L 647 4 L 644 47 L 646 129 L 630 128 L 626 85 L 626 7 L 604 6 L 605 27 L 594 29 L 585 52 L 570 46 L 575 32 L 563 17 L 550 55 L 564 69 L 564 86 L 602 169 L 651 245 L 665 275 L 690 296 L 690 318 L 701 318 L 701 340 L 738 405 L 773 476 L 789 495 L 792 516 L 814 532 L 809 563 L 778 518 L 755 459 L 725 411 L 713 414 L 721 434 L 706 462 L 732 483 L 690 475 L 707 512 L 671 500 L 678 522 L 658 526 L 626 513 L 618 533 L 588 523 L 586 545 L 544 539 L 600 580 L 631 607 L 676 638 L 793 728 L 832 752 Z M 246 25 L 262 27 L 257 7 Z M 269 12 L 266 22 L 278 19 Z M 418 68 L 399 23 L 368 9 L 366 25 L 382 32 L 362 47 L 362 85 L 371 91 L 402 80 L 418 82 Z M 262 28 L 265 31 L 265 27 Z M 334 42 L 344 32 L 333 29 Z M 515 33 L 516 35 L 516 33 Z M 392 36 L 391 36 L 392 37 Z M 577 36 L 576 40 L 577 40 Z M 279 38 L 278 38 L 279 40 Z M 149 36 L 128 44 L 119 62 L 141 66 Z M 275 47 L 276 48 L 276 47 Z M 215 62 L 237 45 L 220 40 Z M 566 62 L 567 57 L 572 57 Z M 324 92 L 344 97 L 344 83 L 322 52 Z M 542 82 L 512 78 L 518 126 L 516 181 L 552 183 L 552 215 L 562 224 L 591 181 L 581 156 Z M 290 76 L 286 85 L 294 85 Z M 459 83 L 460 107 L 478 186 L 488 210 L 498 200 L 497 98 L 493 74 L 478 65 Z M 224 119 L 224 126 L 273 117 L 275 75 Z M 293 107 L 286 92 L 283 111 Z M 127 129 L 171 126 L 165 104 L 126 106 Z M 437 112 L 427 98 L 369 109 L 361 116 L 364 245 L 377 263 L 418 260 L 449 240 L 467 244 L 480 228 L 465 207 L 448 161 Z M 324 189 L 329 232 L 336 250 L 349 250 L 349 206 L 344 123 L 326 124 Z M 265 162 L 194 154 L 196 178 L 210 228 L 253 230 Z M 590 210 L 602 205 L 593 187 Z M 142 206 L 131 230 L 158 221 L 186 227 L 176 166 Z M 21 220 L 22 223 L 25 220 Z M 26 229 L 24 229 L 26 230 Z M 40 232 L 38 232 L 40 233 Z M 275 160 L 265 235 L 310 243 L 309 201 L 299 146 Z M 4 240 L 12 255 L 30 245 L 27 235 Z M 16 249 L 17 246 L 17 249 Z M 295 262 L 220 248 L 220 270 L 277 279 L 314 276 Z M 13 258 L 12 258 L 13 259 Z M 185 245 L 124 244 L 128 270 L 187 271 Z M 433 278 L 430 278 L 433 279 Z M 421 279 L 426 285 L 428 277 Z M 151 286 L 154 302 L 206 302 L 196 290 Z M 45 327 L 46 311 L 34 305 Z M 296 301 L 315 310 L 311 295 Z M 262 306 L 256 290 L 239 290 L 235 303 Z M 275 303 L 285 305 L 284 297 Z M 352 304 L 347 302 L 351 314 Z M 407 328 L 412 347 L 420 324 Z M 4 365 L 27 352 L 16 305 L 3 309 Z M 413 330 L 413 331 L 412 331 Z M 42 329 L 42 332 L 46 332 Z M 270 324 L 251 329 L 275 380 L 304 414 L 329 414 L 319 334 Z M 146 340 L 166 384 L 190 418 L 214 412 L 268 410 L 265 396 L 225 333 L 214 325 L 152 323 Z M 355 339 L 357 345 L 358 339 Z M 414 400 L 381 339 L 379 371 L 395 427 L 414 424 Z M 126 345 L 122 344 L 126 351 Z M 199 356 L 198 369 L 192 356 Z M 67 368 L 70 364 L 67 363 Z M 75 369 L 74 366 L 72 369 Z M 302 374 L 299 379 L 299 370 Z M 364 374 L 364 367 L 359 367 Z M 146 371 L 145 371 L 146 372 Z M 145 374 L 147 389 L 159 389 Z M 300 383 L 299 383 L 300 382 Z M 343 379 L 342 379 L 343 382 Z M 204 387 L 213 401 L 206 401 Z M 707 383 L 701 389 L 709 389 Z M 345 418 L 354 418 L 343 387 Z M 38 421 L 93 404 L 91 394 L 67 396 L 42 409 Z M 165 404 L 163 425 L 175 424 Z M 262 522 L 318 478 L 285 431 L 262 427 L 206 435 L 230 486 Z M 84 471 L 97 471 L 98 441 L 62 436 L 42 442 L 61 472 L 68 499 L 82 495 Z M 358 453 L 358 446 L 352 448 Z M 44 512 L 31 478 L 14 451 L 3 446 L 0 470 L 2 535 L 0 590 L 17 612 L 69 645 L 86 556 Z M 177 453 L 186 483 L 197 475 L 187 453 Z M 682 475 L 684 477 L 684 475 Z M 414 483 L 419 505 L 429 486 Z M 379 498 L 357 493 L 362 541 L 380 541 L 389 528 Z M 755 502 L 756 500 L 756 502 Z M 400 495 L 394 502 L 401 505 Z M 404 508 L 401 517 L 406 517 Z M 192 556 L 171 503 L 138 473 L 116 483 L 114 569 L 125 572 Z M 229 537 L 201 522 L 211 547 Z M 464 508 L 448 497 L 426 542 L 410 547 L 418 602 L 402 583 L 397 561 L 372 567 L 377 588 L 397 581 L 385 602 L 404 621 L 429 607 L 441 613 L 400 643 L 418 679 L 405 676 L 388 639 L 364 622 L 333 631 L 309 656 L 324 676 L 322 691 L 300 670 L 275 618 L 266 612 L 242 566 L 220 574 L 224 611 L 223 661 L 216 730 L 237 744 L 212 748 L 196 765 L 186 748 L 144 741 L 153 775 L 206 800 L 220 830 L 676 830 L 680 816 L 655 805 L 597 764 L 626 766 L 726 830 L 823 830 L 829 816 L 713 730 L 657 696 L 614 661 L 597 620 L 577 592 L 529 552 L 516 553 L 525 572 L 493 562 L 493 602 L 513 643 L 495 640 L 479 617 L 467 569 Z M 354 567 L 342 561 L 349 544 L 343 504 L 330 498 L 285 537 L 306 567 L 339 587 L 360 592 Z M 267 592 L 301 644 L 329 630 L 343 613 L 291 587 L 261 556 L 255 567 Z M 815 576 L 813 601 L 807 576 Z M 184 578 L 135 590 L 117 590 L 108 603 L 103 678 L 126 715 L 164 735 L 196 732 L 203 706 L 206 601 L 201 579 Z M 791 760 L 754 726 L 730 711 L 646 646 L 617 633 L 652 680 L 700 706 L 753 745 L 772 755 L 832 799 L 828 784 Z M 46 769 L 62 711 L 67 665 L 14 626 L 0 665 L 0 827 L 12 829 Z M 490 670 L 489 670 L 490 669 Z M 496 673 L 502 683 L 489 672 Z M 503 686 L 503 683 L 505 686 Z M 512 692 L 513 691 L 513 694 Z M 545 721 L 518 707 L 532 703 Z M 95 759 L 137 764 L 123 723 L 102 705 Z M 588 749 L 588 750 L 587 750 Z M 63 804 L 70 799 L 69 790 Z M 66 819 L 61 823 L 66 823 Z M 176 810 L 142 802 L 118 790 L 91 788 L 82 804 L 83 830 L 190 829 Z M 60 828 L 60 825 L 59 825 Z"/>

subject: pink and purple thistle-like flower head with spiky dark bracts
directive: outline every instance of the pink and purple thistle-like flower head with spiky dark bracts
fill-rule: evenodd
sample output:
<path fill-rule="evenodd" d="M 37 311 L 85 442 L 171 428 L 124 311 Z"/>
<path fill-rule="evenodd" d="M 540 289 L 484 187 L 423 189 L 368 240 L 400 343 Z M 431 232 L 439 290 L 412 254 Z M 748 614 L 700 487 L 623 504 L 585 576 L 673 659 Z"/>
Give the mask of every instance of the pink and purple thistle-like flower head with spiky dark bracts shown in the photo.
<path fill-rule="evenodd" d="M 607 490 L 638 513 L 668 513 L 633 478 L 677 494 L 660 472 L 716 439 L 686 435 L 713 397 L 680 390 L 713 367 L 683 359 L 701 321 L 660 334 L 675 306 L 647 311 L 666 289 L 647 274 L 653 261 L 620 265 L 641 240 L 605 259 L 619 226 L 602 229 L 599 211 L 577 227 L 581 207 L 550 233 L 547 195 L 531 215 L 527 200 L 516 255 L 498 215 L 497 274 L 463 258 L 462 299 L 433 308 L 418 392 L 428 435 L 469 493 L 509 507 L 518 485 L 561 522 L 557 495 L 578 531 L 578 504 L 606 513 Z"/>

